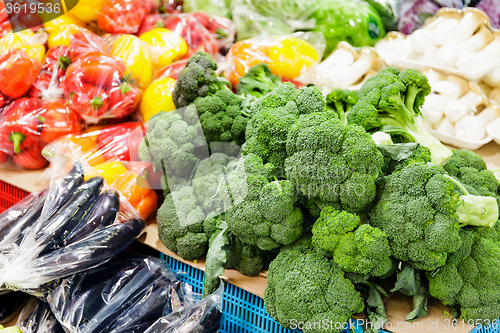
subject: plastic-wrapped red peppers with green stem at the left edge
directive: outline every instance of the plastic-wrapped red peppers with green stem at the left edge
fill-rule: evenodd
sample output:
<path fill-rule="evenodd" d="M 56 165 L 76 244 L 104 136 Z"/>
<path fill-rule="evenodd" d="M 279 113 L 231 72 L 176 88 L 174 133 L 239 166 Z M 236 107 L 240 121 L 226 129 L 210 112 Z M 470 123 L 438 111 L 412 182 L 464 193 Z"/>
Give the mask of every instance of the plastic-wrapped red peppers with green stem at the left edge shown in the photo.
<path fill-rule="evenodd" d="M 80 115 L 64 99 L 18 98 L 0 115 L 0 167 L 43 168 L 43 147 L 81 130 Z"/>

